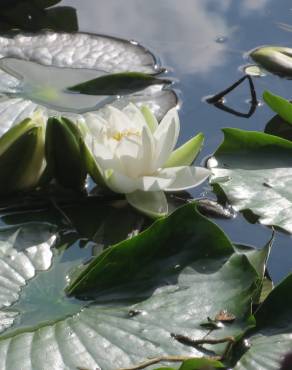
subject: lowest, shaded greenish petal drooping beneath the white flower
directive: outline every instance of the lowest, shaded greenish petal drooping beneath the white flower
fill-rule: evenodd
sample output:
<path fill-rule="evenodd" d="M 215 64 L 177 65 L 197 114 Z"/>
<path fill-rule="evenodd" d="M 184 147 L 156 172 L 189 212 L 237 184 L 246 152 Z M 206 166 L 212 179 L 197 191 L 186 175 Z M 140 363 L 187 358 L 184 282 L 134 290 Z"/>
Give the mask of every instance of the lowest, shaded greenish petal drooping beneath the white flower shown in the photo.
<path fill-rule="evenodd" d="M 126 198 L 132 207 L 149 217 L 163 217 L 168 213 L 167 199 L 163 191 L 145 192 L 137 190 L 127 194 Z"/>

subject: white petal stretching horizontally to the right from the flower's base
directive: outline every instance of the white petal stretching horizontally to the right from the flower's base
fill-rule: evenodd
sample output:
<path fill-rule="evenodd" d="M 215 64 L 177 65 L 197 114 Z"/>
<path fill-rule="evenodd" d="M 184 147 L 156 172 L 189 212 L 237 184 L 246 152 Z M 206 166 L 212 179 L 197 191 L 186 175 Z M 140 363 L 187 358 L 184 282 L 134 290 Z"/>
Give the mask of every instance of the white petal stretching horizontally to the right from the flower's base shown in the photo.
<path fill-rule="evenodd" d="M 205 181 L 211 174 L 209 170 L 203 167 L 191 167 L 191 166 L 182 166 L 182 167 L 170 167 L 165 168 L 164 171 L 175 174 L 176 178 L 174 182 L 165 189 L 165 191 L 181 191 L 193 188 L 200 185 Z"/>

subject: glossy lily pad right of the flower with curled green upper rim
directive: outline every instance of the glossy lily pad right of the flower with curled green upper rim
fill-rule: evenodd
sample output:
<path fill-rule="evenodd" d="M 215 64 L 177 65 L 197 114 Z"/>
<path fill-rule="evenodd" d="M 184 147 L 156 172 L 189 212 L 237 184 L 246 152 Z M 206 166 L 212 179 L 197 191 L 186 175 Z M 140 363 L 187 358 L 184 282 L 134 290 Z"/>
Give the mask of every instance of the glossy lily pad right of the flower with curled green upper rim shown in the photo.
<path fill-rule="evenodd" d="M 261 132 L 224 129 L 209 165 L 235 210 L 292 233 L 292 143 Z"/>

